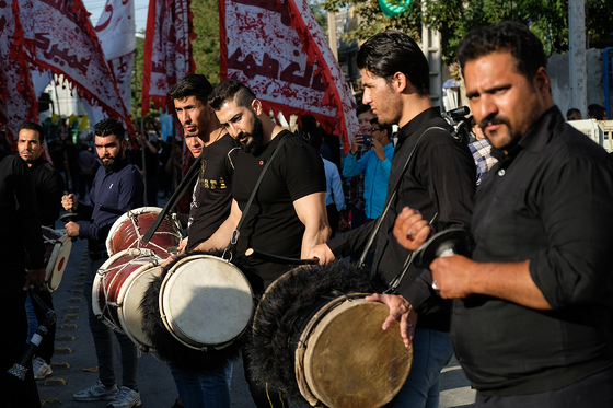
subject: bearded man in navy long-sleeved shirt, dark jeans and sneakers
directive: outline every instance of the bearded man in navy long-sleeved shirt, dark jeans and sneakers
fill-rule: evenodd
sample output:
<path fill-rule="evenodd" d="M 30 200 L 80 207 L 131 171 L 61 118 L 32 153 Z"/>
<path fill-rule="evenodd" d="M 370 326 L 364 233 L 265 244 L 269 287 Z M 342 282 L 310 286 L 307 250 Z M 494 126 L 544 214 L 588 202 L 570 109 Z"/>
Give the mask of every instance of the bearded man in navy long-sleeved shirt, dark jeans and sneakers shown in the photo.
<path fill-rule="evenodd" d="M 115 331 L 122 349 L 123 385 L 118 390 L 113 366 L 113 330 L 100 320 L 92 311 L 92 285 L 97 269 L 108 259 L 106 236 L 119 215 L 106 212 L 101 206 L 119 211 L 142 207 L 144 185 L 138 168 L 127 154 L 124 126 L 116 119 L 107 118 L 94 126 L 95 148 L 102 166 L 97 170 L 90 191 L 89 203 L 80 203 L 73 194 L 63 196 L 61 203 L 66 210 L 81 214 L 90 223 L 83 228 L 76 222 L 66 224 L 69 236 L 86 238 L 90 252 L 90 269 L 85 277 L 85 299 L 89 322 L 96 350 L 100 380 L 85 390 L 73 395 L 76 400 L 109 400 L 109 407 L 134 407 L 140 405 L 137 388 L 137 348 L 130 338 Z"/>

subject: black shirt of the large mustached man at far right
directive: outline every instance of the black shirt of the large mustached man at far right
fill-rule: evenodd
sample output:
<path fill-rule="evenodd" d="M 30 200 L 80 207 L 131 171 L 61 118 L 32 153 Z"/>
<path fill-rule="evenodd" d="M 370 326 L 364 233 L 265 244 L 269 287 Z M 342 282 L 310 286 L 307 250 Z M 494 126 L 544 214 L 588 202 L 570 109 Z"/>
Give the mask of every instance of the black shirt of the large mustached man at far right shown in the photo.
<path fill-rule="evenodd" d="M 497 156 L 476 194 L 473 259 L 529 259 L 553 310 L 456 300 L 455 353 L 484 395 L 559 389 L 613 366 L 613 161 L 557 107 Z"/>

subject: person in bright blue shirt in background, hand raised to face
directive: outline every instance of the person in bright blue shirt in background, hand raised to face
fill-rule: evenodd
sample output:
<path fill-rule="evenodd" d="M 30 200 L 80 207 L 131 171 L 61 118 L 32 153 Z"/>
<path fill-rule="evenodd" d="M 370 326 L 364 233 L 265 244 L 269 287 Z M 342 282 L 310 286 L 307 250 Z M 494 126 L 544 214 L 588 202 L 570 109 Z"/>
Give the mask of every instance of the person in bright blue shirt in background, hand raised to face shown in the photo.
<path fill-rule="evenodd" d="M 363 197 L 367 221 L 374 220 L 383 211 L 390 170 L 392 168 L 392 156 L 394 155 L 394 145 L 390 141 L 392 126 L 379 124 L 377 118 L 371 119 L 370 124 L 372 139 L 370 139 L 370 142 L 362 140 L 362 143 L 368 144 L 369 150 L 358 160 L 359 143 L 351 141 L 351 150 L 345 158 L 345 164 L 343 165 L 344 177 L 365 175 Z"/>

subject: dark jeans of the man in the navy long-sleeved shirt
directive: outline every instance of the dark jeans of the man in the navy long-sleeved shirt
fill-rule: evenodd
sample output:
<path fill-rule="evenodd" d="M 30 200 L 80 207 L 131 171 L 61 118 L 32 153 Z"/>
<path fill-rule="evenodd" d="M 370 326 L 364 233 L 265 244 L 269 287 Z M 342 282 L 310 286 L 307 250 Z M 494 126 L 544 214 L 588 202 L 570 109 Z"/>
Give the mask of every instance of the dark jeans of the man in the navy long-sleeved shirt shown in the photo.
<path fill-rule="evenodd" d="M 95 275 L 106 259 L 91 260 L 90 269 L 85 275 L 83 292 L 88 302 L 90 330 L 94 338 L 94 347 L 97 357 L 99 376 L 102 384 L 112 386 L 117 384 L 114 365 L 113 333 L 119 341 L 122 350 L 122 385 L 130 389 L 138 389 L 136 376 L 138 372 L 137 348 L 130 338 L 122 333 L 112 330 L 100 320 L 92 308 L 92 287 Z"/>

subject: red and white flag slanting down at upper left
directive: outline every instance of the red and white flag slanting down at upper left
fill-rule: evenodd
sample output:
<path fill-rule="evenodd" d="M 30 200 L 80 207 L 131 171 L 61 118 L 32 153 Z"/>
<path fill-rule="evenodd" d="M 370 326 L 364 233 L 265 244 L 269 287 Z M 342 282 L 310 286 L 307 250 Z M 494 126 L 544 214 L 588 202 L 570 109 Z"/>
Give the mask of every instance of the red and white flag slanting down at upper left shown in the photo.
<path fill-rule="evenodd" d="M 107 115 L 123 118 L 131 131 L 126 109 L 108 68 L 89 13 L 81 0 L 20 0 L 22 19 L 34 22 L 34 63 L 63 75 L 82 98 L 96 101 Z M 33 34 L 33 35 L 32 35 Z"/>

